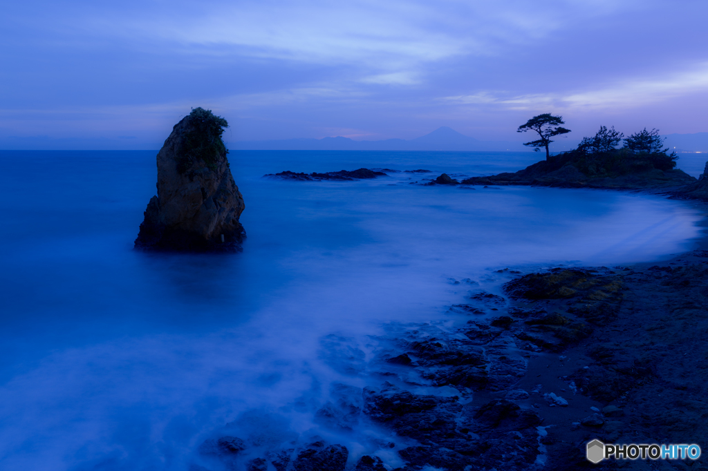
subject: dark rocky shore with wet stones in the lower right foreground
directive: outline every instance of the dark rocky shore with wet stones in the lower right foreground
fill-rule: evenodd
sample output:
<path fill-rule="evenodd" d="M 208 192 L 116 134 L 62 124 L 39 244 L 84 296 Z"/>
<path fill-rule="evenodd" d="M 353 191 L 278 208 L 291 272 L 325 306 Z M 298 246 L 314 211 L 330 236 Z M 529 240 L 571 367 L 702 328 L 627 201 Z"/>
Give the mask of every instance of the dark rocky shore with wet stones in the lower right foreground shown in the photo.
<path fill-rule="evenodd" d="M 566 470 L 588 466 L 594 438 L 700 441 L 708 252 L 677 263 L 549 269 L 501 293 L 451 280 L 467 303 L 438 323 L 389 325 L 369 361 L 351 339 L 324 337 L 331 366 L 370 385 L 333 385 L 315 421 L 345 435 L 388 431 L 377 447 L 403 465 L 320 437 L 256 456 L 253 444 L 222 436 L 202 455 L 246 470 Z"/>

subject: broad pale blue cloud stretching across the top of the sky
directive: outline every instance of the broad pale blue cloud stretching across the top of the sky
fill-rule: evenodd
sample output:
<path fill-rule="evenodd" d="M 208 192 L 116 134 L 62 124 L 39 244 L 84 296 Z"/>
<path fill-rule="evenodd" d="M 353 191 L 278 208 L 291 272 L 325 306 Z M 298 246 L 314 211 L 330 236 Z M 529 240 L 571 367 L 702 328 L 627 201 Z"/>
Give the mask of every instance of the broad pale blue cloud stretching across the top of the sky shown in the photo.
<path fill-rule="evenodd" d="M 349 64 L 404 74 L 414 66 L 463 55 L 503 54 L 509 47 L 572 28 L 578 21 L 636 8 L 638 2 L 525 0 L 162 1 L 120 6 L 44 4 L 15 18 L 69 36 L 139 44 L 177 54 L 239 54 L 318 64 Z M 42 21 L 43 18 L 43 21 Z M 85 47 L 91 47 L 84 41 Z M 74 44 L 74 47 L 80 47 Z M 411 84 L 413 81 L 380 81 Z M 417 81 L 415 82 L 417 83 Z"/>

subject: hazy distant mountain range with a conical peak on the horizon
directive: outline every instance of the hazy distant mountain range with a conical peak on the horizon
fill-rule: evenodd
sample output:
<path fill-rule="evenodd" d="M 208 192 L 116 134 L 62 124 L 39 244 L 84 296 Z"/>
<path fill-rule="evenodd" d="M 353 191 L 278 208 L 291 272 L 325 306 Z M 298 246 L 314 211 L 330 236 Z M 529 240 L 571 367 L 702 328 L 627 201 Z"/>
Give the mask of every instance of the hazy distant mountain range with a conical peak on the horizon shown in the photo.
<path fill-rule="evenodd" d="M 281 139 L 275 141 L 236 141 L 238 150 L 263 151 L 528 151 L 520 142 L 479 141 L 460 134 L 447 126 L 416 139 L 385 139 L 382 141 L 355 141 L 348 137 L 323 139 Z"/>

